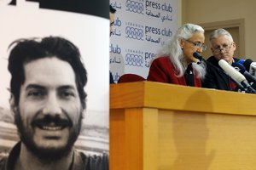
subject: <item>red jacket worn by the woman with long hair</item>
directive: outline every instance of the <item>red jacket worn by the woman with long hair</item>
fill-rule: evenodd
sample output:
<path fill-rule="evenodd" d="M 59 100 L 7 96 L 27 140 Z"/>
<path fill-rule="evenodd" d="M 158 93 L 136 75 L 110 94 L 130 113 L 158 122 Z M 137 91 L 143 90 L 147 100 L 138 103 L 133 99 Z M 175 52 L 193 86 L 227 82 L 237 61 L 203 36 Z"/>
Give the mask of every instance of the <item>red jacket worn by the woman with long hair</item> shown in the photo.
<path fill-rule="evenodd" d="M 171 59 L 168 57 L 159 57 L 154 59 L 148 72 L 148 81 L 166 82 L 187 86 L 185 77 L 176 77 L 175 68 Z M 194 77 L 195 87 L 201 88 L 201 79 Z"/>

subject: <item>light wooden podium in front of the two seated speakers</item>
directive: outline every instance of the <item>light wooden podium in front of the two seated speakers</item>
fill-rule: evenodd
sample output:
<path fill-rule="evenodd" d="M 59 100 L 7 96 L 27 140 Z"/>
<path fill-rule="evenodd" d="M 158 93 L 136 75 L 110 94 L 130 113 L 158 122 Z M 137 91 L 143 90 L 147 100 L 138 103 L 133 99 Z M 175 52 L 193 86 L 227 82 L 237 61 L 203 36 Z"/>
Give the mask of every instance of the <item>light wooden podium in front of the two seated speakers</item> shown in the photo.
<path fill-rule="evenodd" d="M 256 95 L 110 86 L 110 170 L 256 169 Z"/>

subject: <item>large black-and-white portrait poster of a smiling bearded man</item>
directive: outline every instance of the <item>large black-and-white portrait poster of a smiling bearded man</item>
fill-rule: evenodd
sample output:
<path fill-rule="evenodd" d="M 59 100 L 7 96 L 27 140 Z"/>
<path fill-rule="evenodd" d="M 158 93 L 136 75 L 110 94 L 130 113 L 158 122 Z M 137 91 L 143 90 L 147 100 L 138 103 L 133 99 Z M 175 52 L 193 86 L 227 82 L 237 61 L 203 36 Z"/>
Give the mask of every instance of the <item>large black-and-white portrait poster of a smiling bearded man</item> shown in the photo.
<path fill-rule="evenodd" d="M 0 1 L 0 169 L 108 169 L 109 6 L 79 2 Z"/>

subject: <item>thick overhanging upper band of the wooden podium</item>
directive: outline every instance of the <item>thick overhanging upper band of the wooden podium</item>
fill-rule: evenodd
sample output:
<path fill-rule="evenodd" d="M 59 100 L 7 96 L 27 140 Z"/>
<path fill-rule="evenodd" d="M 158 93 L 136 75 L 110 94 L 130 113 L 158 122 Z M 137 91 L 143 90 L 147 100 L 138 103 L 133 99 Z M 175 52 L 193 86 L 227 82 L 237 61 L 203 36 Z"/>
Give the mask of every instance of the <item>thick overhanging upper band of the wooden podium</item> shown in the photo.
<path fill-rule="evenodd" d="M 161 82 L 110 85 L 110 109 L 157 108 L 256 116 L 256 95 Z"/>

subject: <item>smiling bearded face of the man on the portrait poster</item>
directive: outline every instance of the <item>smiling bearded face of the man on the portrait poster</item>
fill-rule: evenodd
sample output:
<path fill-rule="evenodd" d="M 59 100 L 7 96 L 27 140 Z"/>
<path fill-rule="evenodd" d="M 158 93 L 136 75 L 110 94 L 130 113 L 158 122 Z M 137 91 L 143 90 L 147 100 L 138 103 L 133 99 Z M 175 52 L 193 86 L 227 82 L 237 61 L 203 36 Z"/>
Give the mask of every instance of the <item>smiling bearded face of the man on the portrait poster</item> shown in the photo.
<path fill-rule="evenodd" d="M 64 155 L 78 138 L 82 122 L 73 68 L 51 57 L 26 63 L 24 71 L 15 111 L 20 139 L 35 155 Z"/>

